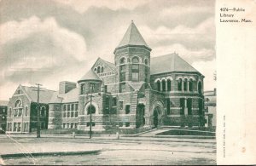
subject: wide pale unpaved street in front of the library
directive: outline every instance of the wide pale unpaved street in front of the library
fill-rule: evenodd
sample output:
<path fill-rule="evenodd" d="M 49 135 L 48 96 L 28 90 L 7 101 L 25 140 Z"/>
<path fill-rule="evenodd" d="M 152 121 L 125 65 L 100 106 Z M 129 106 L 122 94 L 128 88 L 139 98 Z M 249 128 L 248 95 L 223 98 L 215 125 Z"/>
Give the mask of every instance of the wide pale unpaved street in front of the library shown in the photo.
<path fill-rule="evenodd" d="M 0 153 L 26 153 L 26 157 L 3 158 L 3 164 L 216 164 L 216 142 L 209 139 L 174 138 L 55 138 L 1 137 Z M 33 152 L 99 153 L 73 156 L 37 156 Z"/>

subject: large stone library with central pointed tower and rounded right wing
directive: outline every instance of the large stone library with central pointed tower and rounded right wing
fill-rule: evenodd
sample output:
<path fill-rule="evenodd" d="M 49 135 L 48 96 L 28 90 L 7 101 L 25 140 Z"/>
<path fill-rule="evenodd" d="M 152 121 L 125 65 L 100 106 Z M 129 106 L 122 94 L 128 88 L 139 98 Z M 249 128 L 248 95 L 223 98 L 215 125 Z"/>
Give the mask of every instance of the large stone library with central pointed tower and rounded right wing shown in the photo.
<path fill-rule="evenodd" d="M 150 57 L 133 22 L 113 51 L 76 83 L 61 82 L 49 101 L 49 129 L 204 126 L 204 76 L 177 54 Z"/>

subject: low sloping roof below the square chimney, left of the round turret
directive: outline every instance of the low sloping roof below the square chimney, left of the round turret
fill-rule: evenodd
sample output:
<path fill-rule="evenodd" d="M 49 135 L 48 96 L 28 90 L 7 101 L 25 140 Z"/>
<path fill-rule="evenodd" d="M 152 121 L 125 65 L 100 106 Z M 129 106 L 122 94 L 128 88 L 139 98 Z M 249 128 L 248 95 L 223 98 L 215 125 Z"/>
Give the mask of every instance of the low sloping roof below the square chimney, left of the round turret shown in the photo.
<path fill-rule="evenodd" d="M 75 88 L 66 94 L 59 94 L 55 92 L 49 103 L 71 103 L 79 101 L 79 88 Z"/>

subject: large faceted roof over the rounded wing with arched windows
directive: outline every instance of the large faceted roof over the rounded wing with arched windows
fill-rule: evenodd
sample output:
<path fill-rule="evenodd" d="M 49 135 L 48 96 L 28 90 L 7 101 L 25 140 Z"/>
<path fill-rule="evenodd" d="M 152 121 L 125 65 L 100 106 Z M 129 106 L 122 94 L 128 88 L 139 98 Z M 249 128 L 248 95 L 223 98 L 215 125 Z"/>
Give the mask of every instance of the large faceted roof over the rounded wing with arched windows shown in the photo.
<path fill-rule="evenodd" d="M 150 74 L 160 74 L 166 72 L 198 72 L 188 62 L 183 60 L 176 53 L 152 57 Z M 199 72 L 200 73 L 200 72 Z"/>

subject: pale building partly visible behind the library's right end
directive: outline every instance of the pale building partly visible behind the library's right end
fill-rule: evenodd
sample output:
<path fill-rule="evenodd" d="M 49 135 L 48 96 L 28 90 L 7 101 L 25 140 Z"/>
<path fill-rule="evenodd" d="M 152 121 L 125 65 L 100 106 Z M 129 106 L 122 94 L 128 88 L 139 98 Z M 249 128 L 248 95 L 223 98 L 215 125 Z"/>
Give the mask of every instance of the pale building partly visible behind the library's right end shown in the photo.
<path fill-rule="evenodd" d="M 216 89 L 205 91 L 206 127 L 216 127 Z"/>

